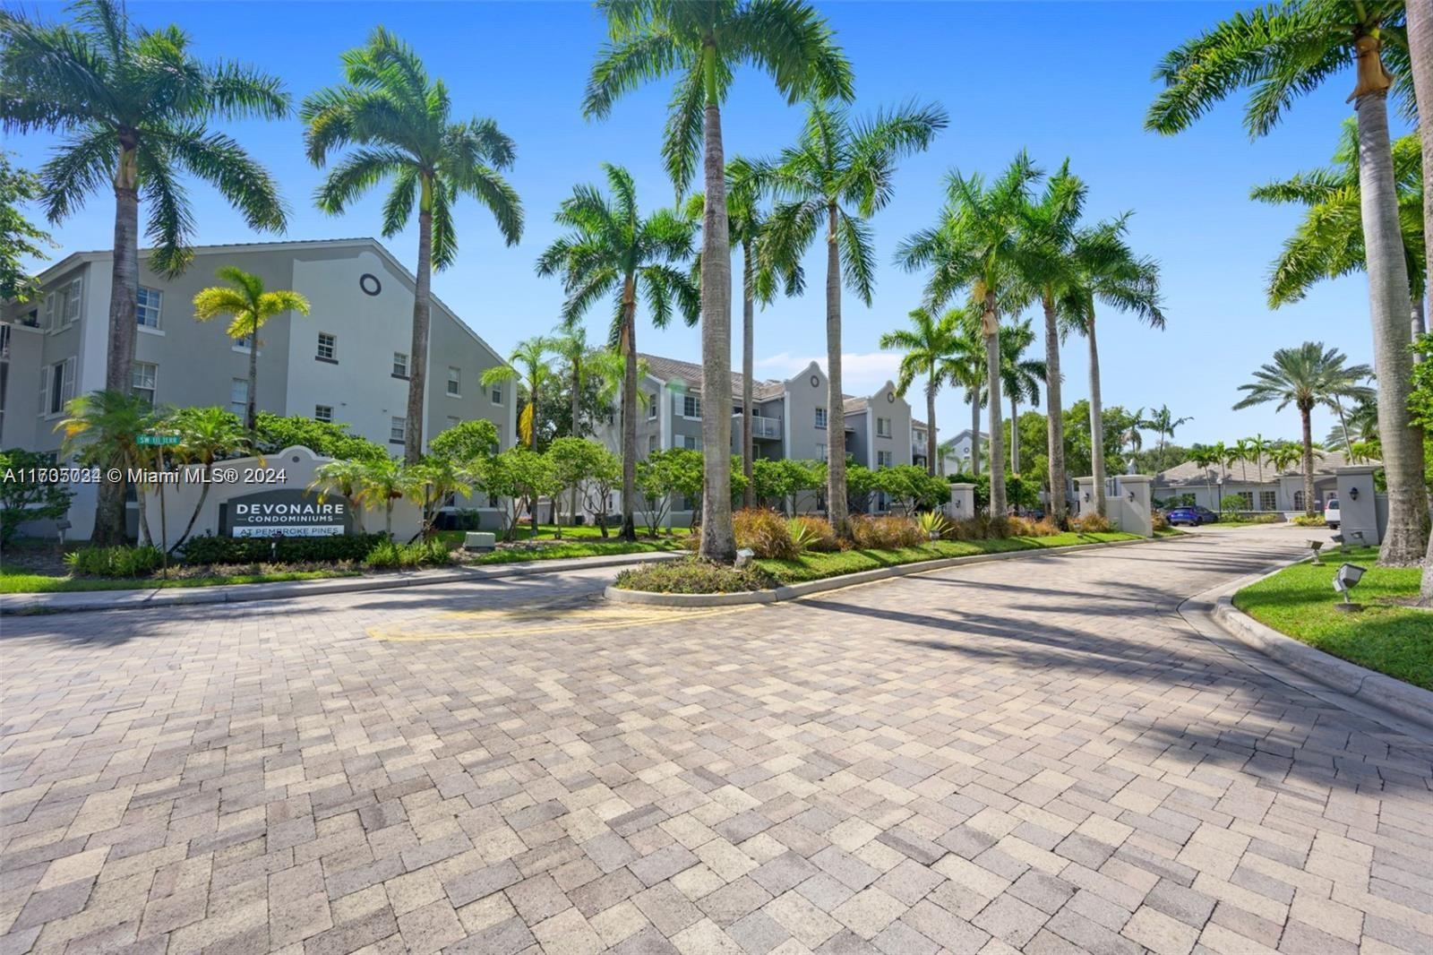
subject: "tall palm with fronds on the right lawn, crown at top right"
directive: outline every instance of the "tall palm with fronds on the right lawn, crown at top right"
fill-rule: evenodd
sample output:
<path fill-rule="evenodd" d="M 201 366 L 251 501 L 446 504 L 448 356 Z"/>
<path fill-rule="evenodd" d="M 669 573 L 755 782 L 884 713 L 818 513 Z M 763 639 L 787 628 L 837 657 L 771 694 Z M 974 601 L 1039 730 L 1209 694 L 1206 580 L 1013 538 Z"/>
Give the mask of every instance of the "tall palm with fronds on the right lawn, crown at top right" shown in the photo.
<path fill-rule="evenodd" d="M 1358 118 L 1358 194 L 1364 271 L 1379 369 L 1379 432 L 1389 485 L 1389 529 L 1381 564 L 1412 565 L 1429 541 L 1423 439 L 1409 412 L 1409 274 L 1399 222 L 1397 179 L 1389 141 L 1389 92 L 1413 102 L 1406 6 L 1399 0 L 1285 3 L 1238 13 L 1171 52 L 1156 69 L 1166 83 L 1145 126 L 1162 133 L 1188 128 L 1234 92 L 1252 87 L 1245 128 L 1257 138 L 1283 119 L 1293 100 L 1356 67 L 1348 99 Z M 1396 75 L 1384 69 L 1394 67 Z M 1424 65 L 1424 69 L 1427 66 Z"/>

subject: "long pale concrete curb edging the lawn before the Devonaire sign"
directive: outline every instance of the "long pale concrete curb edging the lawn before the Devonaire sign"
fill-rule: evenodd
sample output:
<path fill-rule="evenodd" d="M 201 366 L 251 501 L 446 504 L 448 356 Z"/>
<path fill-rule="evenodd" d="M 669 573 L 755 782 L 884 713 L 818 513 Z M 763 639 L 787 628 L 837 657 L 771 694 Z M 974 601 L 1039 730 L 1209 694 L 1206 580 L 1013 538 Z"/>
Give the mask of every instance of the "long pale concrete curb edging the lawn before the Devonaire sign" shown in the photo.
<path fill-rule="evenodd" d="M 82 614 L 109 609 L 150 609 L 156 607 L 193 607 L 202 604 L 246 604 L 277 601 L 292 597 L 322 597 L 325 594 L 361 594 L 393 591 L 433 584 L 463 584 L 504 576 L 536 576 L 592 568 L 628 566 L 651 561 L 669 561 L 682 552 L 613 553 L 610 556 L 569 558 L 560 561 L 514 561 L 450 571 L 417 571 L 373 576 L 338 576 L 318 581 L 284 581 L 277 584 L 228 584 L 221 586 L 165 586 L 133 591 L 86 591 L 70 594 L 4 594 L 0 595 L 0 617 L 19 614 Z"/>

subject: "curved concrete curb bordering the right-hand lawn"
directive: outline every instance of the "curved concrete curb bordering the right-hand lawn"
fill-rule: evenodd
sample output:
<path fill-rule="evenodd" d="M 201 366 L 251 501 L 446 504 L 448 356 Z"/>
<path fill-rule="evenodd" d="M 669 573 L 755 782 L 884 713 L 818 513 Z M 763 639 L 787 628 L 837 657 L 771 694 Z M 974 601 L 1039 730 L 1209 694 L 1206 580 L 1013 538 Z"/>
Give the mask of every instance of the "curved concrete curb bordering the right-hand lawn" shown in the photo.
<path fill-rule="evenodd" d="M 1280 568 L 1255 579 L 1262 581 L 1283 569 Z M 1254 581 L 1242 584 L 1240 589 L 1248 586 L 1251 582 Z M 1360 703 L 1433 728 L 1433 693 L 1429 690 L 1394 680 L 1381 673 L 1374 673 L 1347 660 L 1340 660 L 1281 634 L 1234 607 L 1232 594 L 1225 594 L 1215 602 L 1211 617 L 1230 637 L 1234 637 L 1234 640 L 1245 647 L 1260 651 L 1265 657 L 1277 660 L 1294 673 L 1353 697 Z"/>

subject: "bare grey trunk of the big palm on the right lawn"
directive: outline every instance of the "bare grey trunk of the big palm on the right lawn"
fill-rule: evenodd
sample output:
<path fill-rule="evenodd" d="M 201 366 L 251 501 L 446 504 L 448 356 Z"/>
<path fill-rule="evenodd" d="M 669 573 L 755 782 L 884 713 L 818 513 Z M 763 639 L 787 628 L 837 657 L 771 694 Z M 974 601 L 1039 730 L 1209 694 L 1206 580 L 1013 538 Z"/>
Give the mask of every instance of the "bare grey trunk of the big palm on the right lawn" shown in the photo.
<path fill-rule="evenodd" d="M 1366 52 L 1371 43 L 1371 52 Z M 1377 40 L 1360 39 L 1360 52 L 1377 57 Z M 1360 67 L 1360 75 L 1363 69 Z M 1363 83 L 1360 83 L 1363 86 Z M 1394 194 L 1386 89 L 1358 96 L 1358 191 L 1373 317 L 1373 356 L 1379 373 L 1379 437 L 1389 485 L 1389 529 L 1379 562 L 1422 562 L 1429 535 L 1423 486 L 1423 432 L 1409 416 L 1409 275 Z"/>

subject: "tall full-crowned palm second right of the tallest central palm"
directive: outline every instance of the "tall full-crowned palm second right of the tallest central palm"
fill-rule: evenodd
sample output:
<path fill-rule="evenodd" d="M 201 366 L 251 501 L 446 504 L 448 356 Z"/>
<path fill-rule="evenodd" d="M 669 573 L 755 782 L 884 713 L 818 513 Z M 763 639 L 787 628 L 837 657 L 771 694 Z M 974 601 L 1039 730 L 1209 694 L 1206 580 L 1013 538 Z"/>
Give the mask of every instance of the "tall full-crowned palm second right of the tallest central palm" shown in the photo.
<path fill-rule="evenodd" d="M 876 285 L 870 218 L 894 191 L 896 161 L 930 145 L 949 122 L 930 105 L 901 106 L 856 120 L 841 106 L 811 103 L 797 142 L 774 161 L 752 163 L 771 191 L 767 252 L 794 261 L 825 238 L 827 510 L 838 538 L 850 536 L 845 495 L 845 396 L 841 391 L 841 284 L 867 305 Z"/>

